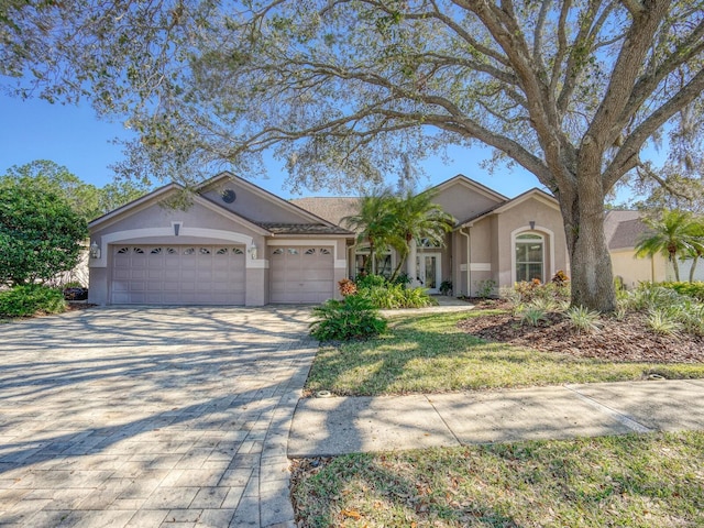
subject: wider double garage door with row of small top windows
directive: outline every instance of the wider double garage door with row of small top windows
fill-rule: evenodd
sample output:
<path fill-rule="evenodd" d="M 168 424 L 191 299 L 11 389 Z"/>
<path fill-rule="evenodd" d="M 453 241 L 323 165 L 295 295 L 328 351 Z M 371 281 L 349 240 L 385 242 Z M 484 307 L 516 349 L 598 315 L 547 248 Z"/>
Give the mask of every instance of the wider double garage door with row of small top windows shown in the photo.
<path fill-rule="evenodd" d="M 244 305 L 244 246 L 112 248 L 116 305 Z"/>

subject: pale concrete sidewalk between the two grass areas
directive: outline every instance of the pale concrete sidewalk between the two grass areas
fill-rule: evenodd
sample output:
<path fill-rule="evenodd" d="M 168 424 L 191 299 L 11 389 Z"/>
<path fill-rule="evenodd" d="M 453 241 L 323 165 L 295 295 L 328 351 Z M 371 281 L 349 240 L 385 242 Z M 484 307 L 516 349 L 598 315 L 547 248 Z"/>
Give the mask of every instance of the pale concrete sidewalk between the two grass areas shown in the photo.
<path fill-rule="evenodd" d="M 682 429 L 704 430 L 704 380 L 308 398 L 288 457 Z"/>

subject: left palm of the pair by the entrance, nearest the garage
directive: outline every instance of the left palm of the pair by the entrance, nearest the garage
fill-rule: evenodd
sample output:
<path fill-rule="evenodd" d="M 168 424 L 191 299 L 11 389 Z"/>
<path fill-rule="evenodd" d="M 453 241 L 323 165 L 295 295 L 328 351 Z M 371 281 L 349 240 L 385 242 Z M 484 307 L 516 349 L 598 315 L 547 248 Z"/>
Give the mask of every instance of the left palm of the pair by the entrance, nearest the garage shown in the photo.
<path fill-rule="evenodd" d="M 394 196 L 389 189 L 377 189 L 360 198 L 360 212 L 341 220 L 348 229 L 358 233 L 358 244 L 365 241 L 370 244 L 370 255 L 364 261 L 366 273 L 372 272 L 376 252 L 389 245 L 394 226 L 393 201 Z"/>

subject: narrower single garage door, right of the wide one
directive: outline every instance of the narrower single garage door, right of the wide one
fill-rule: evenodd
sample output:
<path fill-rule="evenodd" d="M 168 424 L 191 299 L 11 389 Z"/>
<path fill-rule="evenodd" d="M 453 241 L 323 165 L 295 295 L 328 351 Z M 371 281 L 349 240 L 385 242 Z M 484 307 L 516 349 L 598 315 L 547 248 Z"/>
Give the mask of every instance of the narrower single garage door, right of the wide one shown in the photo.
<path fill-rule="evenodd" d="M 333 296 L 333 248 L 270 250 L 271 302 L 322 302 Z"/>

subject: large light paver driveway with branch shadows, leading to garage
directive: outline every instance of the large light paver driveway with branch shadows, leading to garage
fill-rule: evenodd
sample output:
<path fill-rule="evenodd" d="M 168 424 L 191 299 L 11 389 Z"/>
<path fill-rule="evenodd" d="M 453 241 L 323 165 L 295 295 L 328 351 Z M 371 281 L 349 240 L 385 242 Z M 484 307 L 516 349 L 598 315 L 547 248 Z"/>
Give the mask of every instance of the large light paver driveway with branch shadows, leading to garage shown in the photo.
<path fill-rule="evenodd" d="M 0 324 L 0 526 L 292 526 L 307 308 Z"/>

